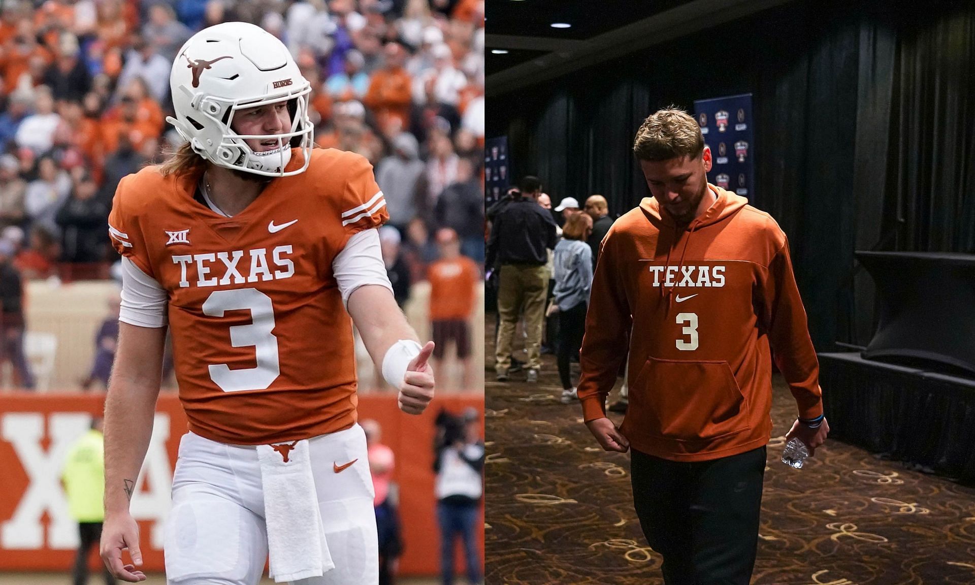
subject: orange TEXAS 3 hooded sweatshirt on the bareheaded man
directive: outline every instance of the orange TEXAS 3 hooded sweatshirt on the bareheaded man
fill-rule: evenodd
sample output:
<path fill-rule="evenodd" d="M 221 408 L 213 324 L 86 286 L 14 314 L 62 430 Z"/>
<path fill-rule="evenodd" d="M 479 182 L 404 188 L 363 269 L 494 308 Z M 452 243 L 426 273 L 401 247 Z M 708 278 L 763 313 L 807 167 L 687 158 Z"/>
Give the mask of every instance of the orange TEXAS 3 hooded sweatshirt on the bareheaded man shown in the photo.
<path fill-rule="evenodd" d="M 768 443 L 773 353 L 799 416 L 823 412 L 785 233 L 744 197 L 708 188 L 717 201 L 681 231 L 649 197 L 613 223 L 582 343 L 585 420 L 605 416 L 629 348 L 620 432 L 633 448 L 673 461 Z"/>

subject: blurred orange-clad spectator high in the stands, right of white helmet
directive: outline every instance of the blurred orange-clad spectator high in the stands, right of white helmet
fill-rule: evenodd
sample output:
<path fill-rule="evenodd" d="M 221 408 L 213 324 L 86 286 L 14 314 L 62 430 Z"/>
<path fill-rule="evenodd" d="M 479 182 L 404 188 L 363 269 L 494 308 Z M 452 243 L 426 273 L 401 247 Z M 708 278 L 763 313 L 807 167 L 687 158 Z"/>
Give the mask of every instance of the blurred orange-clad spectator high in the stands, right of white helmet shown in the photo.
<path fill-rule="evenodd" d="M 372 109 L 380 132 L 392 137 L 409 126 L 410 79 L 403 68 L 406 51 L 402 45 L 387 43 L 383 56 L 385 65 L 372 73 L 363 102 Z"/>

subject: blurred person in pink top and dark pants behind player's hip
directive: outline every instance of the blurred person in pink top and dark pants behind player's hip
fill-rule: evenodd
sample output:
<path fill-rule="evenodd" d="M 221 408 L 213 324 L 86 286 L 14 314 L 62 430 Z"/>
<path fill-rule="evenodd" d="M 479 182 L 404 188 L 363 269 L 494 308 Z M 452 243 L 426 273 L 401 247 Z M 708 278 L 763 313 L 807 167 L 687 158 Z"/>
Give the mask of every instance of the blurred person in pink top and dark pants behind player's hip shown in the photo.
<path fill-rule="evenodd" d="M 396 457 L 393 449 L 382 444 L 379 423 L 366 419 L 359 423 L 366 432 L 369 468 L 375 498 L 375 526 L 379 539 L 379 585 L 393 585 L 403 554 L 403 537 L 396 502 L 390 493 Z"/>

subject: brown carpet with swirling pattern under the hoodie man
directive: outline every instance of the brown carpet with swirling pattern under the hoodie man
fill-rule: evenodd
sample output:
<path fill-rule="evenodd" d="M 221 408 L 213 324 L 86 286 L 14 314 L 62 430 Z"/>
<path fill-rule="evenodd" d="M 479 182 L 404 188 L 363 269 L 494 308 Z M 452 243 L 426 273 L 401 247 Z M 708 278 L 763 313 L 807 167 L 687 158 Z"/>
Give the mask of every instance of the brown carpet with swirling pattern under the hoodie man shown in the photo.
<path fill-rule="evenodd" d="M 524 373 L 490 381 L 486 366 L 486 582 L 662 584 L 633 511 L 629 455 L 604 452 L 578 403 L 559 402 L 545 358 L 538 384 Z M 773 392 L 753 584 L 975 584 L 975 489 L 837 441 L 789 468 L 779 457 L 795 403 L 781 377 Z"/>

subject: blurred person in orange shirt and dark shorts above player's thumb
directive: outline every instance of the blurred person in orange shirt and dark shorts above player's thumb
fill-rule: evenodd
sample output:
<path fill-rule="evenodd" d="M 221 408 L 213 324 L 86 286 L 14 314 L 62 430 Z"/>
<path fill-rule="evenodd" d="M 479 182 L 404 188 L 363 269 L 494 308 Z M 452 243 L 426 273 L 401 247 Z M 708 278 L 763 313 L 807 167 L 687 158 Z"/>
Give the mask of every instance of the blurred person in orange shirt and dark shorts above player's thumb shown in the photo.
<path fill-rule="evenodd" d="M 427 271 L 430 280 L 429 313 L 433 342 L 436 344 L 431 365 L 435 371 L 446 373 L 448 369 L 442 370 L 440 365 L 448 343 L 452 342 L 461 368 L 459 388 L 467 390 L 474 379 L 470 361 L 471 334 L 467 324 L 474 312 L 474 287 L 481 278 L 481 269 L 474 260 L 460 255 L 460 239 L 457 232 L 449 227 L 437 231 L 437 245 L 440 259 L 430 264 Z M 446 375 L 444 382 L 447 382 Z M 448 387 L 448 384 L 444 386 Z"/>

